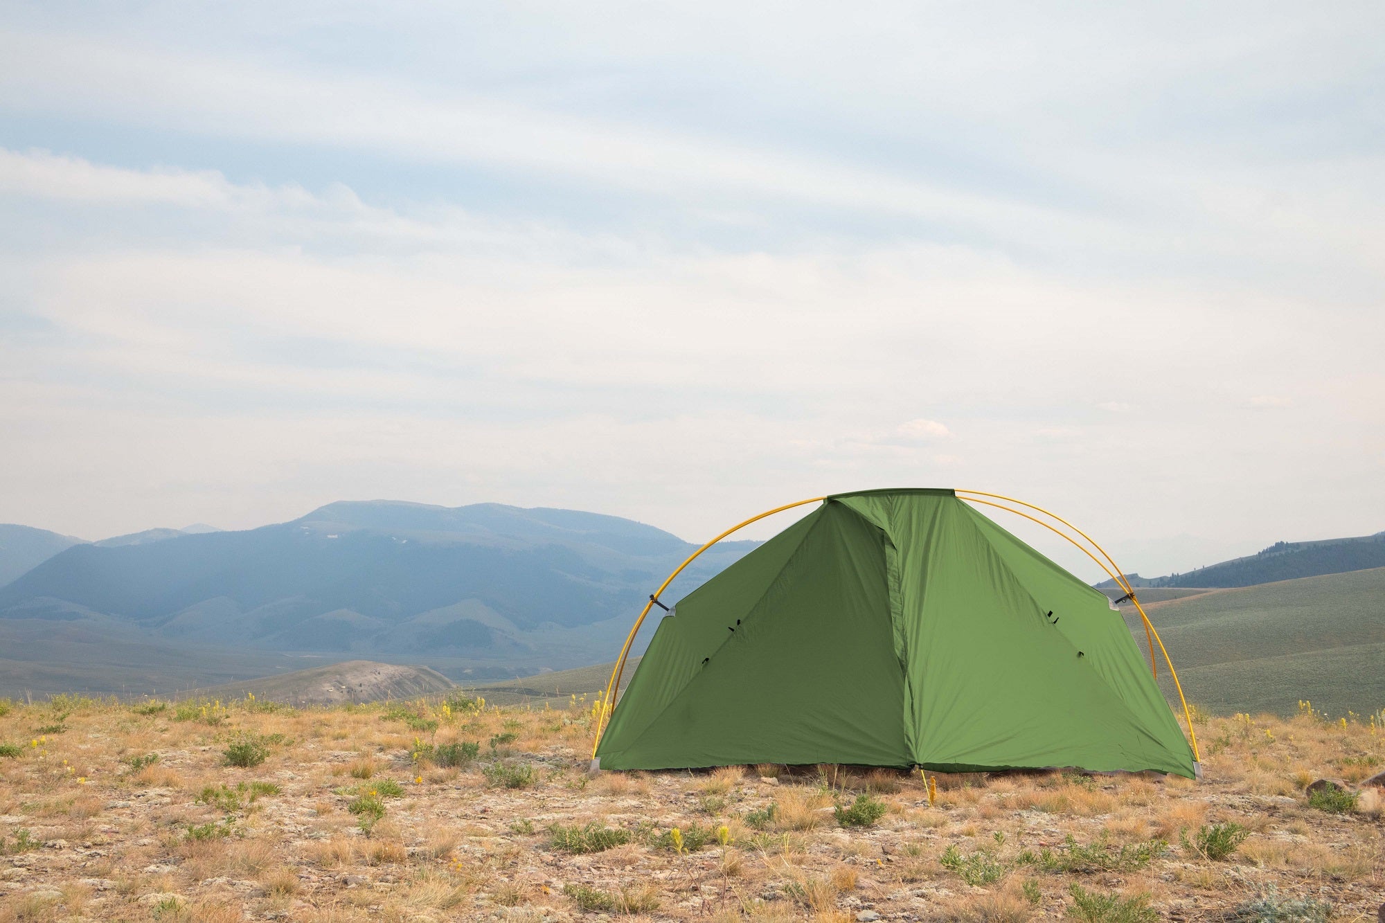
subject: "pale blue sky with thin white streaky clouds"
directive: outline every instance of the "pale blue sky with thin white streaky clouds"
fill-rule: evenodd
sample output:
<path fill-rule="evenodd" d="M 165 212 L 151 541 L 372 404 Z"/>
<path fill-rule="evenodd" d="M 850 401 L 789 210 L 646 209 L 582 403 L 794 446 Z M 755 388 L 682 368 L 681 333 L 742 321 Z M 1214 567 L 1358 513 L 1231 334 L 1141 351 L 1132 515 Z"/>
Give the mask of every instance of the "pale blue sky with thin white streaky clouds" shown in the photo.
<path fill-rule="evenodd" d="M 7 3 L 0 521 L 493 500 L 701 540 L 963 486 L 1144 574 L 1385 529 L 1382 35 L 1378 3 Z"/>

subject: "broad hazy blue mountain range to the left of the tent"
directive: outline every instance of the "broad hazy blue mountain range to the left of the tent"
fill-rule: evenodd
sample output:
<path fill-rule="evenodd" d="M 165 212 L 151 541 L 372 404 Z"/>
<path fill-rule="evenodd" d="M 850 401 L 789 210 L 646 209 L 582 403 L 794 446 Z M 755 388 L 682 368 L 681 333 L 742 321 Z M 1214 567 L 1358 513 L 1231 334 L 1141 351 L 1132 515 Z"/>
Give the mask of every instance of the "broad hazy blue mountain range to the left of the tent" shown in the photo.
<path fill-rule="evenodd" d="M 695 549 L 597 513 L 389 500 L 240 532 L 129 538 L 73 545 L 0 588 L 0 629 L 119 625 L 235 650 L 562 667 L 609 657 L 650 590 Z M 755 545 L 717 545 L 686 586 Z"/>

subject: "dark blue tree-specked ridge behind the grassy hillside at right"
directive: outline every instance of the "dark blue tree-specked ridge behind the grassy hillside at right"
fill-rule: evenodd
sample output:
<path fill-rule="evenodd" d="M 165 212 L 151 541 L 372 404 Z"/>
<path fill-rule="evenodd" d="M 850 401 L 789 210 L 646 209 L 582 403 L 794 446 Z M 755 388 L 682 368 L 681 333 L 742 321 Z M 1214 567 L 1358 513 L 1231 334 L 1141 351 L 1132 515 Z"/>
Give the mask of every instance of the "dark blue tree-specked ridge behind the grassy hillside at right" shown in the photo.
<path fill-rule="evenodd" d="M 1199 567 L 1186 574 L 1144 578 L 1126 574 L 1130 586 L 1233 588 L 1291 581 L 1301 577 L 1349 574 L 1385 567 L 1385 532 L 1357 538 L 1316 542 L 1276 542 L 1274 545 L 1230 561 Z M 1115 589 L 1115 581 L 1102 581 L 1097 589 Z"/>

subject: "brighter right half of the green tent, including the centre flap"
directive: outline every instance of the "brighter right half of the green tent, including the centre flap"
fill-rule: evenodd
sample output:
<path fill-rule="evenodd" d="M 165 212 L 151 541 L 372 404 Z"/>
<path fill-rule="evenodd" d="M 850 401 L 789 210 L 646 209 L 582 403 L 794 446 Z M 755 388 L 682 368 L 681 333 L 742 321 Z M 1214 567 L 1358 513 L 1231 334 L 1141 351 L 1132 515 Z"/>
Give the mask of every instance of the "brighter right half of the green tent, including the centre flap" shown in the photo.
<path fill-rule="evenodd" d="M 1192 775 L 1188 746 L 1102 593 L 947 492 L 834 500 L 897 549 L 914 762 Z"/>

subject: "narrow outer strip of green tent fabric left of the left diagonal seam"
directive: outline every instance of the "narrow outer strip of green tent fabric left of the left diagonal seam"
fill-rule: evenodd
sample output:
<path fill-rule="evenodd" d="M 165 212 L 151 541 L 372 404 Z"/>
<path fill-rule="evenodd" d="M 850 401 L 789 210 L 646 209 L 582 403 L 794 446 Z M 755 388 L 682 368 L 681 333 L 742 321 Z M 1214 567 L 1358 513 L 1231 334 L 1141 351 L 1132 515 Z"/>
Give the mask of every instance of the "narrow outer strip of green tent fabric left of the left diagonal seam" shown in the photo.
<path fill-rule="evenodd" d="M 813 510 L 735 561 L 679 600 L 673 611 L 659 619 L 638 669 L 616 700 L 597 755 L 619 741 L 638 737 L 673 701 L 701 669 L 702 658 L 713 654 L 726 640 L 727 625 L 734 625 L 737 618 L 744 621 L 760 601 L 820 513 L 821 507 Z"/>

